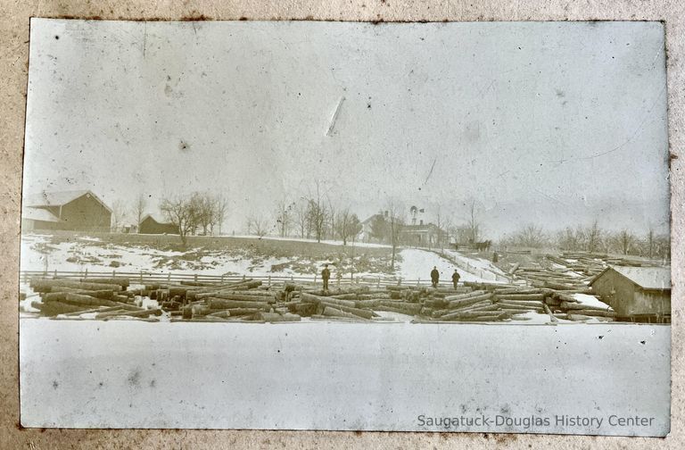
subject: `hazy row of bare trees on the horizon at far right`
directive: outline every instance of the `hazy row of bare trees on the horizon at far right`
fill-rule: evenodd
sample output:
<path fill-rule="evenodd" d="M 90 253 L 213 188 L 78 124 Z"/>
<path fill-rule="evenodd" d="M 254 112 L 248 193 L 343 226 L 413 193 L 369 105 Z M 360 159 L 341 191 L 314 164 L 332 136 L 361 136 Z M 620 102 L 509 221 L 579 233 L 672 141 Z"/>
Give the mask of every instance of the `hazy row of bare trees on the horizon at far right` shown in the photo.
<path fill-rule="evenodd" d="M 540 225 L 527 224 L 515 233 L 504 237 L 500 246 L 532 248 L 557 248 L 563 251 L 603 252 L 611 254 L 639 255 L 648 258 L 669 258 L 670 239 L 658 235 L 652 228 L 644 235 L 630 229 L 610 231 L 602 229 L 598 221 L 588 226 L 566 227 L 548 232 Z"/>

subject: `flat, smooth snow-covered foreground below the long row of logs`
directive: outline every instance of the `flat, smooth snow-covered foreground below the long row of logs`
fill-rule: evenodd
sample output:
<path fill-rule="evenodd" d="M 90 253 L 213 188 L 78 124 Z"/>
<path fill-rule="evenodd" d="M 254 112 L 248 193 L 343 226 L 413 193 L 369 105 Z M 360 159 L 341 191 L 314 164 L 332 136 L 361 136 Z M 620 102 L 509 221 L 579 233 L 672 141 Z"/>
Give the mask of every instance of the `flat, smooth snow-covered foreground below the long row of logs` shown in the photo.
<path fill-rule="evenodd" d="M 480 432 L 664 434 L 668 325 L 20 321 L 21 423 L 95 428 L 424 428 L 430 417 L 551 418 Z M 607 363 L 610 362 L 610 363 Z M 654 417 L 559 427 L 555 414 Z M 518 423 L 518 422 L 517 422 Z M 442 429 L 444 430 L 444 429 Z"/>

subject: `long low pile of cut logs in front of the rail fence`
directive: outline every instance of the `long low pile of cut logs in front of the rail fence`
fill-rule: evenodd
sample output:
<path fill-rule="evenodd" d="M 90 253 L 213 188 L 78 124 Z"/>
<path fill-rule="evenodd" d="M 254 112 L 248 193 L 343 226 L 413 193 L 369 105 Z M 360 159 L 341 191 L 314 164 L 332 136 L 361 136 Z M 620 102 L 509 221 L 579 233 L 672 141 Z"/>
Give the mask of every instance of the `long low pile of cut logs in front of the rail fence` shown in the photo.
<path fill-rule="evenodd" d="M 547 280 L 544 281 L 547 283 Z M 543 283 L 543 284 L 544 284 Z M 560 283 L 557 283 L 560 286 Z M 225 284 L 181 282 L 128 289 L 126 279 L 32 279 L 41 302 L 32 306 L 42 315 L 60 317 L 93 313 L 95 319 L 168 316 L 170 321 L 283 322 L 393 321 L 399 313 L 414 322 L 526 321 L 529 312 L 548 314 L 550 321 L 611 320 L 607 306 L 579 303 L 574 293 L 587 287 L 530 287 L 513 284 L 465 282 L 452 287 L 350 286 L 323 291 L 307 284 L 263 286 L 244 279 Z M 568 285 L 570 286 L 570 285 Z M 155 306 L 144 308 L 147 297 Z M 383 312 L 386 312 L 385 314 Z"/>

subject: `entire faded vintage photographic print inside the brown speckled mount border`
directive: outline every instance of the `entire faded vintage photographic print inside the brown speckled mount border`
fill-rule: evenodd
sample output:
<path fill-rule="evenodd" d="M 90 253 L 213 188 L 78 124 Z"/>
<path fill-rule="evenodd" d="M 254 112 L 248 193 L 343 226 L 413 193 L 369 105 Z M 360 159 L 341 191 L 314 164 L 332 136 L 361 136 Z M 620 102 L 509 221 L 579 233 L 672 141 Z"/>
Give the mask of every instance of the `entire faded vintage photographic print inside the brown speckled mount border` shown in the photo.
<path fill-rule="evenodd" d="M 660 22 L 33 19 L 28 427 L 664 436 Z"/>

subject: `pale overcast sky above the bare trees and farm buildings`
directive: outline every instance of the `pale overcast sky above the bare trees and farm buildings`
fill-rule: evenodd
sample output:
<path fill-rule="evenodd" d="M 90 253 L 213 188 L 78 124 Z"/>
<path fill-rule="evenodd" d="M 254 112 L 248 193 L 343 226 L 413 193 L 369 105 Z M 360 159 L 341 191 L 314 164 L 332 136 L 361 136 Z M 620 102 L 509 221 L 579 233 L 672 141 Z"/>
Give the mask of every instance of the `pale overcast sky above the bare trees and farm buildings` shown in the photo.
<path fill-rule="evenodd" d="M 33 20 L 24 189 L 665 230 L 666 98 L 655 22 Z"/>

